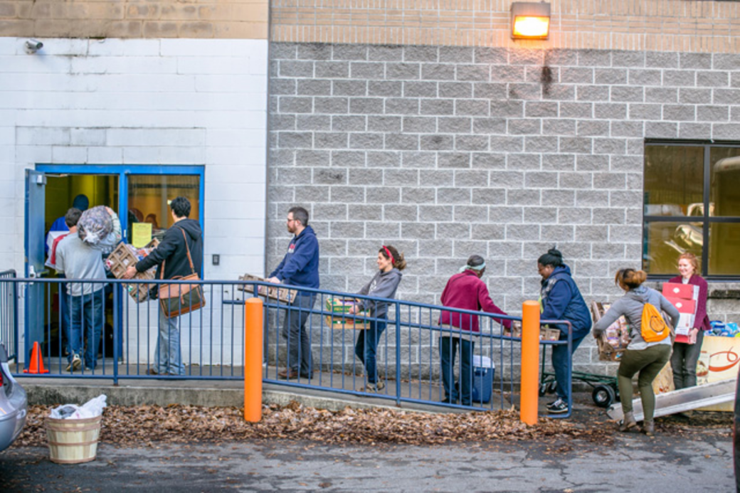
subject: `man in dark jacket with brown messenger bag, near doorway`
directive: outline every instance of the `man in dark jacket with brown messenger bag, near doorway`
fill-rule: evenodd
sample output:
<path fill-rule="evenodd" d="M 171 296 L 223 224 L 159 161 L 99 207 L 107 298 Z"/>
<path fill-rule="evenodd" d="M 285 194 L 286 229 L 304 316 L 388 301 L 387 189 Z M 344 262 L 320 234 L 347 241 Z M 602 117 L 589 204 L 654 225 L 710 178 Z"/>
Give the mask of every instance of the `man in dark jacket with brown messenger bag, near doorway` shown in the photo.
<path fill-rule="evenodd" d="M 157 266 L 156 279 L 199 280 L 203 267 L 203 232 L 198 221 L 189 219 L 190 201 L 178 197 L 169 204 L 175 224 L 167 229 L 161 244 L 149 255 L 129 266 L 124 278 Z M 200 284 L 158 284 L 159 337 L 154 368 L 148 375 L 185 375 L 180 348 L 181 315 L 202 308 L 205 303 Z"/>

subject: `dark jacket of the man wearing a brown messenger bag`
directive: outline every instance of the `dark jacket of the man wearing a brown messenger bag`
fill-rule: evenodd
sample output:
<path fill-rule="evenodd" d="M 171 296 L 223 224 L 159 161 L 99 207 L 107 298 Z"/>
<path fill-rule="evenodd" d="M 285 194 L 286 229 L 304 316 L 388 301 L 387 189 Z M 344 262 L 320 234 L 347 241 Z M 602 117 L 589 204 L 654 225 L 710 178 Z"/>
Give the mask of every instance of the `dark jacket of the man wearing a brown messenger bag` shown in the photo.
<path fill-rule="evenodd" d="M 183 219 L 167 229 L 161 244 L 136 263 L 136 270 L 144 272 L 156 265 L 156 278 L 159 279 L 162 262 L 164 261 L 165 279 L 192 274 L 183 231 L 187 238 L 187 246 L 190 248 L 190 256 L 192 257 L 192 264 L 195 266 L 195 272 L 201 275 L 203 269 L 203 232 L 201 231 L 201 224 L 193 219 Z"/>

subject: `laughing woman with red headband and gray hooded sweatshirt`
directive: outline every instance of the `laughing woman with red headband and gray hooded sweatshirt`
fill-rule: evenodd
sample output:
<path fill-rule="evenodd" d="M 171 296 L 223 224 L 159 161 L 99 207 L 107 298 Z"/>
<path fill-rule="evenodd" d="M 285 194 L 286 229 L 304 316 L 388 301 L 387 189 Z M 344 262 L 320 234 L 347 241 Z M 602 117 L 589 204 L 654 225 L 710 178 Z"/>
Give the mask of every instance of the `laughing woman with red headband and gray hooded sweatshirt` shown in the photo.
<path fill-rule="evenodd" d="M 403 253 L 390 245 L 383 245 L 377 252 L 378 272 L 371 281 L 360 289 L 358 295 L 368 295 L 375 298 L 396 297 L 396 289 L 401 282 L 403 274 L 400 271 L 406 268 L 406 260 Z M 369 329 L 359 331 L 357 335 L 357 344 L 354 346 L 354 354 L 362 360 L 365 366 L 368 383 L 365 386 L 366 392 L 377 392 L 385 387 L 382 381 L 377 378 L 377 366 L 375 355 L 377 353 L 377 343 L 380 341 L 380 335 L 386 330 L 386 320 L 388 318 L 388 303 L 383 301 L 362 300 L 353 306 L 350 314 L 356 312 L 369 311 L 370 316 L 376 320 L 370 321 Z"/>

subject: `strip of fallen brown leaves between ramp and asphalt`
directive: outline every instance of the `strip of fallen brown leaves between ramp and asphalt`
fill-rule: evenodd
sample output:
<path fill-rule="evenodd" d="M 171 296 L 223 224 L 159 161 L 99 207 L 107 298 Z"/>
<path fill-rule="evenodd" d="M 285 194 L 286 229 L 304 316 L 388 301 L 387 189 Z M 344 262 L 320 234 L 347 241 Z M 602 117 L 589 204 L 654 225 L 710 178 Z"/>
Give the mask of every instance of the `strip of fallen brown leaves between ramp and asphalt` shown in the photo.
<path fill-rule="evenodd" d="M 31 406 L 16 446 L 45 446 L 44 417 L 48 406 Z M 701 413 L 692 423 L 676 418 L 657 420 L 658 431 L 672 435 L 716 429 L 728 432 L 731 415 Z M 707 418 L 709 415 L 709 418 Z M 314 440 L 321 443 L 428 445 L 489 440 L 586 440 L 602 445 L 613 440 L 614 424 L 596 409 L 573 420 L 540 418 L 534 426 L 519 421 L 516 411 L 427 414 L 388 409 L 333 412 L 290 403 L 263 406 L 259 423 L 248 423 L 238 408 L 198 406 L 109 406 L 104 410 L 101 441 L 121 446 L 153 443 L 197 443 L 240 440 Z"/>

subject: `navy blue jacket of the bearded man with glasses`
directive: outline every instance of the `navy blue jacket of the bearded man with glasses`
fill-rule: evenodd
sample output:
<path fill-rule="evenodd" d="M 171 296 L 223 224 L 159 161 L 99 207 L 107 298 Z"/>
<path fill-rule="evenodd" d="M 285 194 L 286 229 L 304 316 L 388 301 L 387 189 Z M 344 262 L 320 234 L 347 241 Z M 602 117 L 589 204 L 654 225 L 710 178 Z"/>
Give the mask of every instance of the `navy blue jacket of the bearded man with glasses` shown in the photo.
<path fill-rule="evenodd" d="M 288 246 L 288 252 L 269 278 L 278 278 L 283 284 L 319 287 L 319 241 L 314 229 L 306 226 Z"/>

